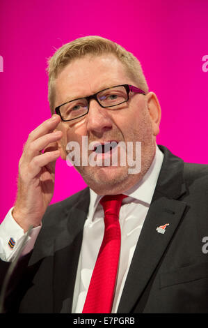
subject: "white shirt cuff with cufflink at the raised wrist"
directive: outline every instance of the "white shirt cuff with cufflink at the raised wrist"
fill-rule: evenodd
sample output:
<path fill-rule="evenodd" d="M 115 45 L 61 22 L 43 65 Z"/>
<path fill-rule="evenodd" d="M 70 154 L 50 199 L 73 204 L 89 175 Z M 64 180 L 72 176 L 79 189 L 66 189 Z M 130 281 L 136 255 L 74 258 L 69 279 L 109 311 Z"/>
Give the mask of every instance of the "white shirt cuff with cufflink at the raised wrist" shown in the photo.
<path fill-rule="evenodd" d="M 18 225 L 12 216 L 12 207 L 3 222 L 0 225 L 0 258 L 1 260 L 12 262 L 15 259 L 19 248 L 22 246 L 24 239 L 24 230 Z M 38 225 L 31 230 L 30 236 L 27 238 L 21 256 L 28 254 L 34 247 L 42 225 Z"/>

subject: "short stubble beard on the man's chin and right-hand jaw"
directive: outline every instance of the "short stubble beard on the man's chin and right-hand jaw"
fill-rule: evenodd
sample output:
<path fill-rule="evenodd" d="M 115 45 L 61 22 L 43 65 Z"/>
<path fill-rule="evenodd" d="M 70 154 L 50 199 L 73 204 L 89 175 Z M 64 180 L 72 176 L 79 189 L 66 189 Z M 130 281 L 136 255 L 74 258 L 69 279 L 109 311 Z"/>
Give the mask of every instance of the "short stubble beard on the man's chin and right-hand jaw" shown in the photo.
<path fill-rule="evenodd" d="M 138 133 L 139 131 L 139 133 Z M 110 138 L 109 138 L 110 139 Z M 143 179 L 154 159 L 156 140 L 152 131 L 150 116 L 144 112 L 141 124 L 129 133 L 129 141 L 141 142 L 141 171 L 129 173 L 129 166 L 118 167 L 75 167 L 88 186 L 99 195 L 123 193 Z M 113 140 L 113 137 L 112 137 Z M 115 137 L 116 140 L 116 137 Z M 122 138 L 118 138 L 122 140 Z M 134 153 L 134 161 L 135 153 Z M 119 161 L 118 161 L 119 163 Z"/>

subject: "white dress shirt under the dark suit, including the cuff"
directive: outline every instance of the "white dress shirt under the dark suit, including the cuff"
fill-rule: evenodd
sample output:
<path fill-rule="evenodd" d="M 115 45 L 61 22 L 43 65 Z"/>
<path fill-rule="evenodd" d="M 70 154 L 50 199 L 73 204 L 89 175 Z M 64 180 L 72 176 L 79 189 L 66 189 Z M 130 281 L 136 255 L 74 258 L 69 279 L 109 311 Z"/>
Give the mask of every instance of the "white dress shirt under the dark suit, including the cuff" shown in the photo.
<path fill-rule="evenodd" d="M 120 263 L 112 313 L 116 313 L 118 310 L 118 304 L 125 285 L 131 259 L 133 258 L 134 250 L 150 207 L 162 162 L 163 153 L 157 147 L 150 169 L 138 184 L 125 192 L 125 195 L 129 197 L 126 197 L 122 201 L 119 218 L 121 228 Z M 74 288 L 72 313 L 82 312 L 99 247 L 102 244 L 104 235 L 104 211 L 101 204 L 99 204 L 101 198 L 102 196 L 97 195 L 90 189 L 90 206 L 83 228 L 83 241 Z M 6 218 L 0 225 L 0 257 L 6 261 L 12 261 L 15 258 L 15 254 L 24 238 L 24 230 L 17 225 L 12 217 L 11 211 L 12 209 L 8 211 Z M 22 255 L 31 251 L 40 229 L 41 226 L 32 230 L 31 237 L 29 237 Z M 15 240 L 15 247 L 13 249 L 8 246 L 10 237 L 13 237 Z"/>

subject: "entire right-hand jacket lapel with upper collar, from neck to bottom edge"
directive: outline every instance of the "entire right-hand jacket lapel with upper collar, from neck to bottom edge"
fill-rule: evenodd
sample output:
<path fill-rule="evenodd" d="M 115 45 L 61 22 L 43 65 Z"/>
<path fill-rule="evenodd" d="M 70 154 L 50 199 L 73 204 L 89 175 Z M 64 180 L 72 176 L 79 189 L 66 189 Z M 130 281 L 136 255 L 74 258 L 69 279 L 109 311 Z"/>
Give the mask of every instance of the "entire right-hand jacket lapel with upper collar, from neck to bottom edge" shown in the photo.
<path fill-rule="evenodd" d="M 134 305 L 141 297 L 170 244 L 186 209 L 186 203 L 178 200 L 186 191 L 183 180 L 184 162 L 173 156 L 165 147 L 160 148 L 165 155 L 163 165 L 131 261 L 118 313 L 133 311 Z M 169 224 L 166 232 L 164 234 L 157 232 L 157 228 L 166 223 Z"/>

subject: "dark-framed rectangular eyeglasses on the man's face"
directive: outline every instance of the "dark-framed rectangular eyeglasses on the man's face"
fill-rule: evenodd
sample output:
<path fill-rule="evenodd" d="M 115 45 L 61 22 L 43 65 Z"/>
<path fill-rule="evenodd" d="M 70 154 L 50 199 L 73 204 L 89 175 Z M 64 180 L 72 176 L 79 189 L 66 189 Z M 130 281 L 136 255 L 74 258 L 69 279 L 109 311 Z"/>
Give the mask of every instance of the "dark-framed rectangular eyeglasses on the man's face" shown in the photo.
<path fill-rule="evenodd" d="M 112 107 L 112 110 L 117 109 L 118 107 L 116 106 L 126 103 L 129 100 L 130 91 L 135 92 L 136 94 L 145 95 L 143 90 L 138 89 L 133 85 L 116 85 L 115 87 L 104 89 L 88 97 L 67 101 L 67 103 L 63 103 L 56 107 L 55 112 L 61 116 L 62 121 L 79 119 L 79 117 L 88 114 L 91 99 L 95 99 L 103 108 Z"/>

